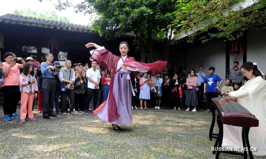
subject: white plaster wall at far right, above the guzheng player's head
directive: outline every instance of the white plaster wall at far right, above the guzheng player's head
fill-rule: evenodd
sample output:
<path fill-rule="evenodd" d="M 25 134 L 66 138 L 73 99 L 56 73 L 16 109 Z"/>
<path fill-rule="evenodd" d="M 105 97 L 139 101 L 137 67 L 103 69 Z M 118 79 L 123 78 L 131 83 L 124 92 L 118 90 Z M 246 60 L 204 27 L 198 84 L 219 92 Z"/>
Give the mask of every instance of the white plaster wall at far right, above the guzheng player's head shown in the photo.
<path fill-rule="evenodd" d="M 266 72 L 266 29 L 249 30 L 246 36 L 246 51 L 249 62 L 256 62 Z"/>

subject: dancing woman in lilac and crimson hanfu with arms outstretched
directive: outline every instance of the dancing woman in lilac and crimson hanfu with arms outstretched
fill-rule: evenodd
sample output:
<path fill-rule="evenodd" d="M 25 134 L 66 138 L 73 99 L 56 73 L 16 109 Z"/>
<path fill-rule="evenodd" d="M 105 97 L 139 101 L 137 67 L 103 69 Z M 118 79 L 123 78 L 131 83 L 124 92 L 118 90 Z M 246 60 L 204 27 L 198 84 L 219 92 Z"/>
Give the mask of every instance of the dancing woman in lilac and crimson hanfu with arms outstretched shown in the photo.
<path fill-rule="evenodd" d="M 116 56 L 104 47 L 95 43 L 88 43 L 87 48 L 96 47 L 91 50 L 91 59 L 97 61 L 106 72 L 113 69 L 110 91 L 107 99 L 93 111 L 104 122 L 111 123 L 115 132 L 120 132 L 118 125 L 132 124 L 131 116 L 131 92 L 135 96 L 131 81 L 136 78 L 137 72 L 149 72 L 161 74 L 167 65 L 166 61 L 155 63 L 141 63 L 135 58 L 128 57 L 129 46 L 127 42 L 121 42 L 119 50 L 121 56 Z"/>

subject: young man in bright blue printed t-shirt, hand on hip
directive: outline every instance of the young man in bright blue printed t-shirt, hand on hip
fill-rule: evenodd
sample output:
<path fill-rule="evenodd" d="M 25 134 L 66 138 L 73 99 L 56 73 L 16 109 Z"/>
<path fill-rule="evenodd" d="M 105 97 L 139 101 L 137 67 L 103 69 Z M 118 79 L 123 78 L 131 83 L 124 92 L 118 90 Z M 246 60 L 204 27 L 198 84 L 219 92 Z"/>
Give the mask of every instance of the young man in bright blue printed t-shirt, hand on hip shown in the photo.
<path fill-rule="evenodd" d="M 215 68 L 210 67 L 209 68 L 209 76 L 206 76 L 204 78 L 204 93 L 207 95 L 207 110 L 205 112 L 211 112 L 212 108 L 212 98 L 218 97 L 218 91 L 217 89 L 220 88 L 220 86 L 223 83 L 223 80 L 218 76 L 214 75 Z M 219 86 L 217 86 L 217 81 L 219 81 Z M 206 91 L 207 86 L 207 91 Z"/>

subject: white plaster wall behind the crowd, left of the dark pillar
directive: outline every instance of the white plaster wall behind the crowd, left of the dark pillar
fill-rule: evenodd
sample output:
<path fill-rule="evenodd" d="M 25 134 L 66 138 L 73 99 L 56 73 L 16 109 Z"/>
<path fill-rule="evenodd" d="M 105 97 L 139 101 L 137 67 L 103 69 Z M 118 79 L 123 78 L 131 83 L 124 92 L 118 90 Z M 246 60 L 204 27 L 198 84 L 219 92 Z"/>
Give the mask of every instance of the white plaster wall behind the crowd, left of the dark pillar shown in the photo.
<path fill-rule="evenodd" d="M 199 66 L 202 66 L 203 72 L 208 76 L 209 67 L 215 67 L 214 74 L 225 81 L 225 42 L 210 41 L 195 48 L 189 48 L 186 56 L 187 73 L 189 68 L 193 68 L 198 73 Z"/>

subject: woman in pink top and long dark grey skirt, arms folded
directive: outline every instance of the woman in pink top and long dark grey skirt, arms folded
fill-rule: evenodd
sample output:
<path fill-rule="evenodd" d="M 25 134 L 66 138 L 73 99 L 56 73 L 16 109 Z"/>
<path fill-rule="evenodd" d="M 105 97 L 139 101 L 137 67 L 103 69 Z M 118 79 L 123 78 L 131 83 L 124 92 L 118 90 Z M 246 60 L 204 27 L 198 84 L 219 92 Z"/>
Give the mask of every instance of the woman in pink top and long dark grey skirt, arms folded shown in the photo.
<path fill-rule="evenodd" d="M 196 108 L 198 105 L 198 97 L 197 97 L 197 92 L 196 92 L 196 86 L 198 83 L 198 78 L 195 76 L 195 71 L 192 70 L 190 71 L 190 77 L 187 79 L 187 95 L 186 95 L 186 105 L 188 105 L 188 109 L 186 111 L 189 111 L 190 106 L 195 106 L 195 108 L 192 110 L 192 112 L 196 112 Z"/>

